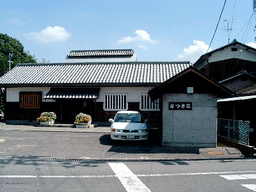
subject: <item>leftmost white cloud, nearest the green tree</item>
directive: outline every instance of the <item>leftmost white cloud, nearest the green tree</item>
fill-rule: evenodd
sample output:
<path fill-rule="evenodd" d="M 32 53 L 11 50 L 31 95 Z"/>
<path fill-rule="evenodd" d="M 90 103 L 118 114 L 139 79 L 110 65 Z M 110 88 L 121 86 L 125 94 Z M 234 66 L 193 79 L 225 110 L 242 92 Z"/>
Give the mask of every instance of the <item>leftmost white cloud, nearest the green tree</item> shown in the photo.
<path fill-rule="evenodd" d="M 71 33 L 68 33 L 65 28 L 60 26 L 49 26 L 42 31 L 29 33 L 29 36 L 47 44 L 50 42 L 64 42 L 70 38 Z"/>

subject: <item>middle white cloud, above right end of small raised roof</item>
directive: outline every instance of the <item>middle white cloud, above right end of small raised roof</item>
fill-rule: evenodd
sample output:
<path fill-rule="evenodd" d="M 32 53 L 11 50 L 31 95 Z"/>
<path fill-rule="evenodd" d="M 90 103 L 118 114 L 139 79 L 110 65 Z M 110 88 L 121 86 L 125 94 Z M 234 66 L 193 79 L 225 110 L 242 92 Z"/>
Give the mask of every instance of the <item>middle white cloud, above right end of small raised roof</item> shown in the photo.
<path fill-rule="evenodd" d="M 152 40 L 147 31 L 144 30 L 136 30 L 134 32 L 135 36 L 127 36 L 123 37 L 122 40 L 119 40 L 119 44 L 131 43 L 131 42 L 149 42 L 150 44 L 156 44 L 156 40 Z"/>

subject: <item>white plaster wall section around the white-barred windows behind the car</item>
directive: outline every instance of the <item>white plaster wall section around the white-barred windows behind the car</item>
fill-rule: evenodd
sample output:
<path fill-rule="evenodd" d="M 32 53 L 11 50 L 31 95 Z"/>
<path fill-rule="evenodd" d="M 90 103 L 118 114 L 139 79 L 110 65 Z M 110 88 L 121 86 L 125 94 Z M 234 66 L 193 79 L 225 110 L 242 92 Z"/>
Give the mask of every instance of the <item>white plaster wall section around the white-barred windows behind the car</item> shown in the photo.
<path fill-rule="evenodd" d="M 141 94 L 147 93 L 148 90 L 153 87 L 141 87 L 141 86 L 132 86 L 132 87 L 101 87 L 99 97 L 97 98 L 97 102 L 104 102 L 105 95 L 119 93 L 119 94 L 127 94 L 127 102 L 140 102 Z"/>

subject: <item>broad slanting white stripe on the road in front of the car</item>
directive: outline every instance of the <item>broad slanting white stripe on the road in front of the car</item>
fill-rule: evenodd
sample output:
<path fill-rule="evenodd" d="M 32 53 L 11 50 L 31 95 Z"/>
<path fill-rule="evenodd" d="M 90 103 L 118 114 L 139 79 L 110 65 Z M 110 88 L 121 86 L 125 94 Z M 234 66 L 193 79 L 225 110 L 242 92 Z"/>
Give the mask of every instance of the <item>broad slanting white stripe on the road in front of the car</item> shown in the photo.
<path fill-rule="evenodd" d="M 116 177 L 123 184 L 127 192 L 129 191 L 150 191 L 143 182 L 124 163 L 108 163 Z"/>

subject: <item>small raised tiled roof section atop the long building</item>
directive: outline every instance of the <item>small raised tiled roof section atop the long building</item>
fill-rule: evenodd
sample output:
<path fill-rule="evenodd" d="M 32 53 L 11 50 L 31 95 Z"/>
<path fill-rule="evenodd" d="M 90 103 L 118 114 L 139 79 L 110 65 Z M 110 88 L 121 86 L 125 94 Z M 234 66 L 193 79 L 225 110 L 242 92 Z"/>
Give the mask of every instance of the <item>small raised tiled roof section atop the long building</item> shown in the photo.
<path fill-rule="evenodd" d="M 136 61 L 132 49 L 81 50 L 68 52 L 67 62 Z"/>

